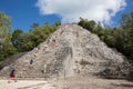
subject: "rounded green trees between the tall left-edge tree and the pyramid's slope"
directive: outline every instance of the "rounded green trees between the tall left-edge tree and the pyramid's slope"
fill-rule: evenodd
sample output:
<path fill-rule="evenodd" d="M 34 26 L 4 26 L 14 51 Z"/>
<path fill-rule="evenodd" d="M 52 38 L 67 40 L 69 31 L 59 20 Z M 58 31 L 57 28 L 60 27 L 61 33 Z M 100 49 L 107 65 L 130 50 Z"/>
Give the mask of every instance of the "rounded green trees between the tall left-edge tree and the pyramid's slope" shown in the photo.
<path fill-rule="evenodd" d="M 32 50 L 58 29 L 55 24 L 37 24 L 38 23 L 33 23 L 35 27 L 28 33 L 24 33 L 21 30 L 16 30 L 12 33 L 12 42 L 19 52 Z"/>

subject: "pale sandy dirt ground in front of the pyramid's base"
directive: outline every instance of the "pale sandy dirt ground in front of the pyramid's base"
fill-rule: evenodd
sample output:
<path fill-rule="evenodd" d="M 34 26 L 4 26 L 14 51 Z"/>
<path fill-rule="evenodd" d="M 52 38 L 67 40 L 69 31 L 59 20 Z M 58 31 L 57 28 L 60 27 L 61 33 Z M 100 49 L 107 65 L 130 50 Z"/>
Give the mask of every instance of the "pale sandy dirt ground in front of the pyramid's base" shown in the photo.
<path fill-rule="evenodd" d="M 133 89 L 133 82 L 117 79 L 65 78 L 59 80 L 0 80 L 0 89 Z"/>

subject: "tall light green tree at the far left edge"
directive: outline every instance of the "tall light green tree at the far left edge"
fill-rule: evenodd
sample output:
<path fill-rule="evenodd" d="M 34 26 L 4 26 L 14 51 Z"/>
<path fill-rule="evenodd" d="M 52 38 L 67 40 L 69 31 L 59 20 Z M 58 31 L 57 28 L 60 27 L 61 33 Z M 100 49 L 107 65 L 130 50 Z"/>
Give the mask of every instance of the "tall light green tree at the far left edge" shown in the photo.
<path fill-rule="evenodd" d="M 10 18 L 3 12 L 0 12 L 0 61 L 16 52 L 11 42 Z"/>

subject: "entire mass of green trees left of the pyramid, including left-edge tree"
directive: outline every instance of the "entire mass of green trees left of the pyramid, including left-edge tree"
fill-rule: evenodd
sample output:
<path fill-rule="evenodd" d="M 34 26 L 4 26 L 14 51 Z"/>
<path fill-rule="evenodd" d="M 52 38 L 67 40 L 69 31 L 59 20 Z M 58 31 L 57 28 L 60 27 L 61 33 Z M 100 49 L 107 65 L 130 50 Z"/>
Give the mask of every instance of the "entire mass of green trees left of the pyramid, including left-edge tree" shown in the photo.
<path fill-rule="evenodd" d="M 11 32 L 10 18 L 0 12 L 0 61 L 17 52 L 30 51 L 43 42 L 61 24 L 57 21 L 54 24 L 32 23 L 29 32 L 20 29 Z"/>

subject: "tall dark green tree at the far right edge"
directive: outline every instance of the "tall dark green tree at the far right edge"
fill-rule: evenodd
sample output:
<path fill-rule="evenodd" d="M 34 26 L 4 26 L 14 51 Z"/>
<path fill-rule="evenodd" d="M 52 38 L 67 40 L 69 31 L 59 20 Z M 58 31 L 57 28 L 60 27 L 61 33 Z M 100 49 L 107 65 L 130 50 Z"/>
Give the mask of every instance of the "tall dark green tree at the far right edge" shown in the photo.
<path fill-rule="evenodd" d="M 124 53 L 133 59 L 133 11 L 122 16 L 121 26 L 124 31 Z"/>

